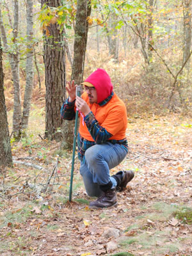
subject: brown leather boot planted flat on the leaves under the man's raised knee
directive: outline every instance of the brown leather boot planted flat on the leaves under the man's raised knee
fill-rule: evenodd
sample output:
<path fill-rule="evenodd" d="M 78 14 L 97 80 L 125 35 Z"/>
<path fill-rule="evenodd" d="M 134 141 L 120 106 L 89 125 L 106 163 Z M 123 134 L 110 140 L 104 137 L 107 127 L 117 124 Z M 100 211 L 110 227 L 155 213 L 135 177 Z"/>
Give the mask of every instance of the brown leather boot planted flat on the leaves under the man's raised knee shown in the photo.
<path fill-rule="evenodd" d="M 92 209 L 108 208 L 111 206 L 117 206 L 115 188 L 104 191 L 97 200 L 90 202 L 90 208 Z"/>

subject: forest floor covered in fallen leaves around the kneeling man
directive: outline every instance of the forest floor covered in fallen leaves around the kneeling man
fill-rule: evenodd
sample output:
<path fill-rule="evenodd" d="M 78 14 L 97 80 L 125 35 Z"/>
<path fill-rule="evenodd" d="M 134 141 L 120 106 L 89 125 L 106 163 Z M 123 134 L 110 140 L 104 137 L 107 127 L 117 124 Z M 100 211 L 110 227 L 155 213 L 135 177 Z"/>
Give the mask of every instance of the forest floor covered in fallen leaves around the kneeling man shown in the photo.
<path fill-rule="evenodd" d="M 192 255 L 191 118 L 130 117 L 129 154 L 111 174 L 135 177 L 117 193 L 118 207 L 92 210 L 77 159 L 68 202 L 72 154 L 41 140 L 38 114 L 28 138 L 12 141 L 13 168 L 1 172 L 1 256 Z"/>

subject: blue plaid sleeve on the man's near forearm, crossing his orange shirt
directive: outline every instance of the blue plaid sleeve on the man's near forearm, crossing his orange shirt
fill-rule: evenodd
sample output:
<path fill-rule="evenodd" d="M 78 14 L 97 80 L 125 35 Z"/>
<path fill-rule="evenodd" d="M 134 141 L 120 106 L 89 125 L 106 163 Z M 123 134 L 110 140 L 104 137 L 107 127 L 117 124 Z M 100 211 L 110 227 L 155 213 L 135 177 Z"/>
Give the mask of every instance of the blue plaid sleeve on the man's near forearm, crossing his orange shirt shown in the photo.
<path fill-rule="evenodd" d="M 88 127 L 88 131 L 92 135 L 93 140 L 97 144 L 104 143 L 113 136 L 113 134 L 109 133 L 104 127 L 99 125 L 99 122 L 96 120 L 92 112 L 84 116 L 84 122 Z"/>

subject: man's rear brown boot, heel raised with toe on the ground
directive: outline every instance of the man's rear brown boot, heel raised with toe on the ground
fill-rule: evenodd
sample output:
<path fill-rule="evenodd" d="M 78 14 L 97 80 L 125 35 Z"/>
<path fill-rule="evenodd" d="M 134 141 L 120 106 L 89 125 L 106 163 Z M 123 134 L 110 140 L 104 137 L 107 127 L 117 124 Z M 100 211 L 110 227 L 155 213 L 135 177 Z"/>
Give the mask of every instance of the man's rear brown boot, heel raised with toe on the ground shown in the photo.
<path fill-rule="evenodd" d="M 130 182 L 133 179 L 134 172 L 132 172 L 132 171 L 127 171 L 127 172 L 120 171 L 120 172 L 117 172 L 112 177 L 114 177 L 117 181 L 116 191 L 123 191 L 126 188 L 127 183 Z"/>

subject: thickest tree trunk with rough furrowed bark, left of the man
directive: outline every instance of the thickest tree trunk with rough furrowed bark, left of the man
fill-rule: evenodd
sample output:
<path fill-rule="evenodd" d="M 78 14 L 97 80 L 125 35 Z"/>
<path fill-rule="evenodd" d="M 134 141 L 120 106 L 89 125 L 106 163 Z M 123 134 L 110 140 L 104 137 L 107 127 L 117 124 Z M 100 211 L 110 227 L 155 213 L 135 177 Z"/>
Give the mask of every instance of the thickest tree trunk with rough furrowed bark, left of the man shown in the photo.
<path fill-rule="evenodd" d="M 42 0 L 42 4 L 58 7 L 61 6 L 61 0 Z M 65 48 L 58 25 L 50 24 L 48 29 L 49 36 L 45 35 L 44 31 L 45 138 L 60 140 L 62 124 L 60 109 L 64 100 L 63 95 L 65 95 Z"/>

